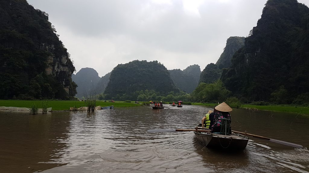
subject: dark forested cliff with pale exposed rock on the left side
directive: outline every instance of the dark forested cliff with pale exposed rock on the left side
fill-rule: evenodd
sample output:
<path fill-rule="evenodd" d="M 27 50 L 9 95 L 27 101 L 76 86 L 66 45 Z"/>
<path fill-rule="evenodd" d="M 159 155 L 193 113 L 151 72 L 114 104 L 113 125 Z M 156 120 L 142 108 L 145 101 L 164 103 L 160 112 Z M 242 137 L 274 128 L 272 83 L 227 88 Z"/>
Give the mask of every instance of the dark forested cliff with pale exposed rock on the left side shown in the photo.
<path fill-rule="evenodd" d="M 0 0 L 0 99 L 71 99 L 75 68 L 48 14 Z"/>

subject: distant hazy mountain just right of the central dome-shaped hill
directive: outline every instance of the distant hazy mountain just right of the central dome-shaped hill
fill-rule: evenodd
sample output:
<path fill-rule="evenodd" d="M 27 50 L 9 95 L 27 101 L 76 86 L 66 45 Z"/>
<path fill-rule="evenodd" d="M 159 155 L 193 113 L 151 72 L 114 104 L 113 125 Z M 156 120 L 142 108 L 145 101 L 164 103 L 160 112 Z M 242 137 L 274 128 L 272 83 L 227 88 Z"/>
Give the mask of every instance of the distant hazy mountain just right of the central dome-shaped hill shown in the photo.
<path fill-rule="evenodd" d="M 175 85 L 187 93 L 191 93 L 197 87 L 198 79 L 201 74 L 200 66 L 196 64 L 188 66 L 183 71 L 180 69 L 168 71 Z"/>

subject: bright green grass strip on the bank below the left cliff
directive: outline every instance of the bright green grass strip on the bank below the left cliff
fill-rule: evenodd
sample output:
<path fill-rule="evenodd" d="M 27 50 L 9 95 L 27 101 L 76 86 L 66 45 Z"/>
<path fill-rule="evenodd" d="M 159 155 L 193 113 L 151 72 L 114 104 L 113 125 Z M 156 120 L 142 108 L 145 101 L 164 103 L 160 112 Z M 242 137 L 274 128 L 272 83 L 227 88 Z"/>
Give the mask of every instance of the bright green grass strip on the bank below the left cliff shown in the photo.
<path fill-rule="evenodd" d="M 39 108 L 42 108 L 42 101 L 39 100 L 0 100 L 0 106 L 5 107 L 27 107 L 30 108 L 33 104 L 36 104 Z M 70 110 L 70 107 L 85 107 L 83 101 L 48 101 L 48 107 L 52 107 L 52 111 Z M 124 103 L 124 102 L 104 102 L 97 101 L 96 106 L 106 107 L 114 105 L 114 107 L 136 107 L 141 104 Z"/>

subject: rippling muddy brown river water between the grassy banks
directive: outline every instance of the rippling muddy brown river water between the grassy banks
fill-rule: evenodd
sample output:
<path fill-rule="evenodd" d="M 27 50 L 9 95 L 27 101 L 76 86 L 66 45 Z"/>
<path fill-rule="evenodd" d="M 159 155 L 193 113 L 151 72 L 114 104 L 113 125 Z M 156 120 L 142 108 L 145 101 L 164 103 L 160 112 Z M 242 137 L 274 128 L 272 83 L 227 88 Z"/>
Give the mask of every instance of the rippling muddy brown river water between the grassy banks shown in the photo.
<path fill-rule="evenodd" d="M 0 172 L 303 172 L 309 151 L 249 137 L 244 151 L 202 146 L 193 128 L 211 108 L 115 108 L 29 115 L 0 111 Z M 234 109 L 232 130 L 309 148 L 309 116 Z"/>

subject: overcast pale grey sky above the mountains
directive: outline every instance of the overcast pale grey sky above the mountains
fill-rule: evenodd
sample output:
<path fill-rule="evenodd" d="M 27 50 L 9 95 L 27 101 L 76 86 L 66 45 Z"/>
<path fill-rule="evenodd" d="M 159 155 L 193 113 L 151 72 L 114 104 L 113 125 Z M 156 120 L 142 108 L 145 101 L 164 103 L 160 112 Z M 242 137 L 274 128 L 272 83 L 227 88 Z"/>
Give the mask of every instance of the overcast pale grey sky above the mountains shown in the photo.
<path fill-rule="evenodd" d="M 266 0 L 27 0 L 49 14 L 76 72 L 158 60 L 168 70 L 216 63 L 226 39 L 246 37 Z M 309 5 L 309 0 L 298 0 Z"/>

